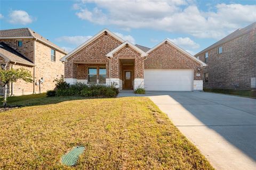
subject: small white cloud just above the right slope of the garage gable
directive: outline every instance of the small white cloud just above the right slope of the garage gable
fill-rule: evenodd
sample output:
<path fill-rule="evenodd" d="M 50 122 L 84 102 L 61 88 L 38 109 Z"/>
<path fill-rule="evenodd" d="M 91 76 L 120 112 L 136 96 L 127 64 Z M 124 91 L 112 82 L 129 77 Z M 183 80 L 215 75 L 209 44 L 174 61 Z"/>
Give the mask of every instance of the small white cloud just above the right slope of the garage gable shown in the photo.
<path fill-rule="evenodd" d="M 174 39 L 170 39 L 170 41 L 172 41 L 174 44 L 177 44 L 178 46 L 182 47 L 182 48 L 199 48 L 200 45 L 195 43 L 195 41 L 191 40 L 189 37 L 186 38 L 174 38 Z"/>

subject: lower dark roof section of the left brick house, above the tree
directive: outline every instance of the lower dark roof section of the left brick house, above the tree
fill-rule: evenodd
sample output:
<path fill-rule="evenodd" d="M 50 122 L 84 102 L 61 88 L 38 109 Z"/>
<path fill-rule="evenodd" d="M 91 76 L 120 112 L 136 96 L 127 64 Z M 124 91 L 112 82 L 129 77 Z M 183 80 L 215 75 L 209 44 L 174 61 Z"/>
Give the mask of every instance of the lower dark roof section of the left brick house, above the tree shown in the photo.
<path fill-rule="evenodd" d="M 0 43 L 0 56 L 4 57 L 5 60 L 9 60 L 10 62 L 35 66 L 35 64 L 33 64 L 33 62 L 30 61 L 27 57 L 23 56 L 15 49 L 3 42 Z"/>

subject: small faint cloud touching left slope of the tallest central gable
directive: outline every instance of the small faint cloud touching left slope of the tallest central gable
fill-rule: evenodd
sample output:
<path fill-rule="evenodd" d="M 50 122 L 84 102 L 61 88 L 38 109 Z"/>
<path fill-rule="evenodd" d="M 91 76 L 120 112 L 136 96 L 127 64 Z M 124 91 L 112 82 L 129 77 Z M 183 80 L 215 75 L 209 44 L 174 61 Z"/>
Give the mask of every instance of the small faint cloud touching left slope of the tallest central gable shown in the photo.
<path fill-rule="evenodd" d="M 92 36 L 62 36 L 56 38 L 55 40 L 58 42 L 78 46 L 83 44 L 86 40 L 90 39 Z"/>

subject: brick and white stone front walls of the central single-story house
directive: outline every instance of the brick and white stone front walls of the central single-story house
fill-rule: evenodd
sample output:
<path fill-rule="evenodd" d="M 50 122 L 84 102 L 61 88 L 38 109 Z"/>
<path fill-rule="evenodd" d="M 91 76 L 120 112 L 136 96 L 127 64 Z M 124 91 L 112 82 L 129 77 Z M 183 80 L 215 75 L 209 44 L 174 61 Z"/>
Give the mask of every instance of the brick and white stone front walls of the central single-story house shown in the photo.
<path fill-rule="evenodd" d="M 109 32 L 98 33 L 77 52 L 62 58 L 65 61 L 65 81 L 71 84 L 87 83 L 88 67 L 106 66 L 106 84 L 114 82 L 116 87 L 122 89 L 124 70 L 131 70 L 132 86 L 137 89 L 144 86 L 144 69 L 189 69 L 194 71 L 194 89 L 202 90 L 201 67 L 204 63 L 196 61 L 169 43 L 160 45 L 147 56 L 137 46 L 121 42 Z"/>

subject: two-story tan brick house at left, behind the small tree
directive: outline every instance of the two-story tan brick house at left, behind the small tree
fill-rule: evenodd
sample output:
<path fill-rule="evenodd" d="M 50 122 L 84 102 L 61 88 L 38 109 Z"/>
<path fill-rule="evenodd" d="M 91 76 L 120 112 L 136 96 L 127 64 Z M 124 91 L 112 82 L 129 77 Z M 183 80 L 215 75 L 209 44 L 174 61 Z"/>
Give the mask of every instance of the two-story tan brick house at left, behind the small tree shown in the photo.
<path fill-rule="evenodd" d="M 34 78 L 34 83 L 18 80 L 8 84 L 9 95 L 27 95 L 52 90 L 55 87 L 54 79 L 63 77 L 64 64 L 60 58 L 67 53 L 35 31 L 29 28 L 1 30 L 0 42 L 2 67 L 9 61 L 9 67 L 25 67 Z M 3 95 L 2 86 L 0 95 Z"/>

